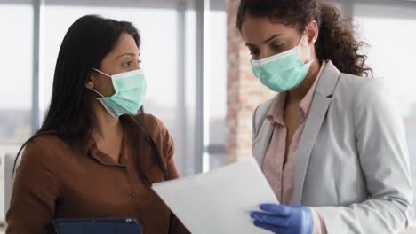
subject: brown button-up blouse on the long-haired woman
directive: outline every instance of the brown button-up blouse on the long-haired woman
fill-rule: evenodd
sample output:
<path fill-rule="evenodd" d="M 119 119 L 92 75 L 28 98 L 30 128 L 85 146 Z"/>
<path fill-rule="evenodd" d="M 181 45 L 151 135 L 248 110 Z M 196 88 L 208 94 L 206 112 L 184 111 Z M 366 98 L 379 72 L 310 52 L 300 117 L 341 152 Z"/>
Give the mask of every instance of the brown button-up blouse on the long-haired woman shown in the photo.
<path fill-rule="evenodd" d="M 149 114 L 134 119 L 155 142 L 168 179 L 178 178 L 172 137 L 164 124 Z M 151 145 L 144 139 L 134 145 L 132 132 L 139 126 L 133 120 L 124 118 L 122 125 L 119 162 L 93 141 L 76 150 L 57 136 L 31 140 L 17 169 L 6 233 L 54 233 L 52 220 L 57 218 L 124 217 L 136 218 L 146 234 L 189 233 L 143 180 L 145 175 L 151 183 L 164 181 Z"/>

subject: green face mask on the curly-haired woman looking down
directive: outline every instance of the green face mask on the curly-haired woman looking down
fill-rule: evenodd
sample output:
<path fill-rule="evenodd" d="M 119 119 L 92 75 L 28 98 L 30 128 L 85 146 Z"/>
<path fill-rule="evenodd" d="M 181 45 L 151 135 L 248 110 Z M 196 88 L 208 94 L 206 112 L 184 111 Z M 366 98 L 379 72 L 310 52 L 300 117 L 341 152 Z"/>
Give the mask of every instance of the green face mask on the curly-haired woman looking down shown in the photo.
<path fill-rule="evenodd" d="M 300 39 L 302 42 L 304 37 Z M 300 44 L 299 43 L 299 44 Z M 310 57 L 310 50 L 308 60 Z M 312 61 L 304 64 L 299 45 L 268 58 L 252 60 L 252 71 L 268 89 L 276 92 L 292 90 L 300 85 L 308 74 Z"/>

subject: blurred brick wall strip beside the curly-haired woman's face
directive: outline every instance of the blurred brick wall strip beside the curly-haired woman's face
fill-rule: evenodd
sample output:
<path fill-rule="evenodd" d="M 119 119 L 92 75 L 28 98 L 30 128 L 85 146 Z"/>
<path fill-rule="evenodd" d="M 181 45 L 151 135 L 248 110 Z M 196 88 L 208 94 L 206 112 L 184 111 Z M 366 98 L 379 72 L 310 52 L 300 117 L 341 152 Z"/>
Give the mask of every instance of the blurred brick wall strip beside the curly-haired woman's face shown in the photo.
<path fill-rule="evenodd" d="M 252 74 L 250 52 L 236 28 L 240 0 L 228 0 L 227 161 L 252 156 L 252 113 L 273 96 Z"/>

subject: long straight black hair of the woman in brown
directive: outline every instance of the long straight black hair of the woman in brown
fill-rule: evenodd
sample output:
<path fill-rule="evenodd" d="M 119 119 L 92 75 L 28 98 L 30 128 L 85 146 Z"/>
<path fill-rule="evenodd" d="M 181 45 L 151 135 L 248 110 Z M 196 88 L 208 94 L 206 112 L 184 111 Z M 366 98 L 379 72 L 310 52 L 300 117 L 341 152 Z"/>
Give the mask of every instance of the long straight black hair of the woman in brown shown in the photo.
<path fill-rule="evenodd" d="M 41 128 L 21 146 L 14 162 L 13 174 L 20 152 L 36 136 L 58 136 L 72 147 L 83 145 L 92 138 L 92 130 L 97 121 L 92 108 L 93 95 L 91 90 L 85 88 L 85 83 L 91 76 L 92 67 L 100 68 L 102 59 L 114 49 L 123 34 L 132 35 L 136 45 L 140 47 L 139 31 L 131 22 L 86 15 L 69 27 L 60 45 L 56 62 L 51 105 Z M 166 178 L 164 161 L 156 149 L 156 144 L 141 126 L 140 121 L 134 120 L 132 116 L 128 117 L 130 118 L 127 119 L 131 119 L 140 127 L 134 128 L 137 129 L 136 140 L 144 137 L 149 141 Z M 149 183 L 147 176 L 144 177 Z"/>

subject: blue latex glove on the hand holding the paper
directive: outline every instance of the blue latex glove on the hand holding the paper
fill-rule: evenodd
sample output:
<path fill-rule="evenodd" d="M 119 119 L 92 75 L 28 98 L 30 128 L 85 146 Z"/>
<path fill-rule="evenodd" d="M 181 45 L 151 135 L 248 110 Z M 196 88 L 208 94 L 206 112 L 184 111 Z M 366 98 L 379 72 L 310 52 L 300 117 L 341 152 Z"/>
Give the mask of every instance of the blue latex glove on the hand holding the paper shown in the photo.
<path fill-rule="evenodd" d="M 252 212 L 256 227 L 278 234 L 311 234 L 313 229 L 312 211 L 303 206 L 262 204 L 264 212 Z"/>

